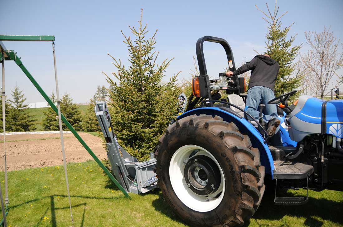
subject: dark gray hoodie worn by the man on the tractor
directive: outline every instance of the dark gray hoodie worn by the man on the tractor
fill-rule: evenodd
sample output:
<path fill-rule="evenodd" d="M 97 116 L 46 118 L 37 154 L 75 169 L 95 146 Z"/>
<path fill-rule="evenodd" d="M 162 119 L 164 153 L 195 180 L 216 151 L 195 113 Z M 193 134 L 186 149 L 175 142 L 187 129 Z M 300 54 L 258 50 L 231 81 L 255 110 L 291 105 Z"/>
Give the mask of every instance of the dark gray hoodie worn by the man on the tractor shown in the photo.
<path fill-rule="evenodd" d="M 274 92 L 276 76 L 279 73 L 279 64 L 272 58 L 264 55 L 256 55 L 236 71 L 233 75 L 239 75 L 251 70 L 249 88 L 253 86 L 269 87 Z"/>

